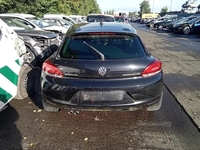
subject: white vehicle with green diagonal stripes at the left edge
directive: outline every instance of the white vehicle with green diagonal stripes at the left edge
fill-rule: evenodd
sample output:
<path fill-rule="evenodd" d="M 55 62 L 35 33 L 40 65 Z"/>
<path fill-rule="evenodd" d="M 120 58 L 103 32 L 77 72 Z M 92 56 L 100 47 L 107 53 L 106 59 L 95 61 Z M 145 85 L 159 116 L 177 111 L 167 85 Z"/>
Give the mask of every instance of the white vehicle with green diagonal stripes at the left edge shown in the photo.
<path fill-rule="evenodd" d="M 18 77 L 26 53 L 24 41 L 0 19 L 0 111 L 16 95 Z"/>

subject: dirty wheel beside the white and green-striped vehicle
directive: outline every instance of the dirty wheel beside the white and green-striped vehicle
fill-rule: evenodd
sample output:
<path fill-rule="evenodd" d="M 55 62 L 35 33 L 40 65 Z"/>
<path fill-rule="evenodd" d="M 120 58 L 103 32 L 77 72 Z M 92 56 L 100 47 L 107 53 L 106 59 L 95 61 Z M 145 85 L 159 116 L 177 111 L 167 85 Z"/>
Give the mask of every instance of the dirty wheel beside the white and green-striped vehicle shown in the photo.
<path fill-rule="evenodd" d="M 17 95 L 15 99 L 24 99 L 35 91 L 35 74 L 28 65 L 23 65 L 19 72 Z"/>

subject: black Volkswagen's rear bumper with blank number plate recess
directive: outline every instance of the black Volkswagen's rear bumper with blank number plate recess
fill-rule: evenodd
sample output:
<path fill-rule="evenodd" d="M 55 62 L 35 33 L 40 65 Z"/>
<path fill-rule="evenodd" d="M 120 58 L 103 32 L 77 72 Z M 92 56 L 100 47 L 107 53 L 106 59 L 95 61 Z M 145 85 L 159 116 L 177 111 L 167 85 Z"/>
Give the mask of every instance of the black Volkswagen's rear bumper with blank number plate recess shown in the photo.
<path fill-rule="evenodd" d="M 43 78 L 42 99 L 75 110 L 141 109 L 157 103 L 163 92 L 162 73 L 148 79 L 67 80 L 60 84 Z"/>

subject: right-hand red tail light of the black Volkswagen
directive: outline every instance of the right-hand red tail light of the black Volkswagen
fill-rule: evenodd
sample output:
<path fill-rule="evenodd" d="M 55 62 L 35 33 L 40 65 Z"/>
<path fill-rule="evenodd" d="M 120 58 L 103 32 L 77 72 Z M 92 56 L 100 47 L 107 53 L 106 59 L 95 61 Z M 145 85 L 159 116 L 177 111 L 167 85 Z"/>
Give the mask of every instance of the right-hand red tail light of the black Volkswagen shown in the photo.
<path fill-rule="evenodd" d="M 146 69 L 142 72 L 143 77 L 153 76 L 162 70 L 162 63 L 155 59 Z"/>

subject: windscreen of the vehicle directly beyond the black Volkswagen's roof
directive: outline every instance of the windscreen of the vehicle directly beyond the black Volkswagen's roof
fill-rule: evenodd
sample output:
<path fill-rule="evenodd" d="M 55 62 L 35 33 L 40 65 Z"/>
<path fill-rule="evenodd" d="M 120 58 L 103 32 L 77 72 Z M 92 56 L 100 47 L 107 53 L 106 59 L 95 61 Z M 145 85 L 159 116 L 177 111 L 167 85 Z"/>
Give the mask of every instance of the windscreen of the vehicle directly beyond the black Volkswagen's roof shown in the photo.
<path fill-rule="evenodd" d="M 112 16 L 87 16 L 88 22 L 115 22 L 115 18 Z"/>

